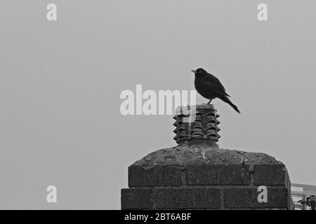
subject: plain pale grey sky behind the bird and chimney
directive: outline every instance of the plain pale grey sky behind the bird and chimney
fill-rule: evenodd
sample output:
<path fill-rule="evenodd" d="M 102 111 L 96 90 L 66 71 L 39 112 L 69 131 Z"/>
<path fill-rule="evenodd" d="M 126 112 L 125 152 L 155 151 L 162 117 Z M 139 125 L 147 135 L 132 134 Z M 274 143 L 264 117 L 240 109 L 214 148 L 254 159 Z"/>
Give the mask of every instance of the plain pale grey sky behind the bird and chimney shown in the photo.
<path fill-rule="evenodd" d="M 56 3 L 58 21 L 46 20 Z M 258 3 L 268 21 L 258 22 Z M 175 146 L 171 116 L 121 116 L 122 90 L 218 76 L 221 148 L 316 184 L 315 1 L 0 1 L 0 209 L 119 209 L 127 167 Z M 199 97 L 198 103 L 207 100 Z M 46 202 L 46 187 L 58 203 Z"/>

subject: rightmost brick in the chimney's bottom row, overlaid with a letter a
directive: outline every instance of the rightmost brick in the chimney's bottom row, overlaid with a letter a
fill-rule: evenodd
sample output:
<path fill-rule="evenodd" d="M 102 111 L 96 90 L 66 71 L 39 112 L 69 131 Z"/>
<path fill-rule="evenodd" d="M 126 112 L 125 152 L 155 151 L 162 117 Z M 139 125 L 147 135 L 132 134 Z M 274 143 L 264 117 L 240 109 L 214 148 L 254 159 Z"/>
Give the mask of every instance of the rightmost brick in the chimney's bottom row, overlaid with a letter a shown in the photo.
<path fill-rule="evenodd" d="M 267 187 L 268 202 L 258 202 L 258 187 L 225 188 L 225 209 L 288 209 L 288 190 L 284 187 Z"/>

